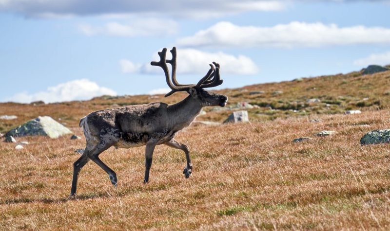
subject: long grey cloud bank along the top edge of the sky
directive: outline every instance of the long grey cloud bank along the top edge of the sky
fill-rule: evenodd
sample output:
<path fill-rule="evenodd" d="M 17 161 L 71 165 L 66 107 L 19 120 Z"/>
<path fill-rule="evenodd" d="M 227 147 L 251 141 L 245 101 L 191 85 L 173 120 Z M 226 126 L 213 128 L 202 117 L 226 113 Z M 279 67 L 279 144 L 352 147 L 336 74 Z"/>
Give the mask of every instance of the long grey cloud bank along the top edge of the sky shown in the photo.
<path fill-rule="evenodd" d="M 278 11 L 281 0 L 0 0 L 0 11 L 27 17 L 160 15 L 183 18 L 209 18 L 245 11 Z"/>

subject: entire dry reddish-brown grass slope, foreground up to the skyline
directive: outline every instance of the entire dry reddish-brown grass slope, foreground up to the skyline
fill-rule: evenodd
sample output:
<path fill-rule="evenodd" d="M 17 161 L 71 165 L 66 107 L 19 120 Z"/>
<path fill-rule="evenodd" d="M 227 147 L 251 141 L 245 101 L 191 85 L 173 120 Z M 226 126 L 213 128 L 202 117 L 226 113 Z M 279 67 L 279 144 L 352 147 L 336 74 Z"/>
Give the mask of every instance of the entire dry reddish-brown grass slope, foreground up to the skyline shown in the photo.
<path fill-rule="evenodd" d="M 176 140 L 189 146 L 193 160 L 189 179 L 182 174 L 185 156 L 180 150 L 157 146 L 150 183 L 143 184 L 144 148 L 110 148 L 100 157 L 117 172 L 117 189 L 89 162 L 80 172 L 74 199 L 69 198 L 73 162 L 79 156 L 74 150 L 84 147 L 84 139 L 18 138 L 30 142 L 21 150 L 0 142 L 0 230 L 390 230 L 390 146 L 359 144 L 368 131 L 390 128 L 389 83 L 388 71 L 243 88 L 265 90 L 264 95 L 222 90 L 231 104 L 271 106 L 250 109 L 251 123 L 192 124 L 178 133 Z M 273 95 L 274 90 L 284 93 Z M 364 97 L 369 100 L 362 101 Z M 277 108 L 309 98 L 322 102 L 297 112 Z M 1 104 L 0 114 L 19 116 L 1 126 L 4 131 L 50 115 L 83 137 L 77 124 L 88 112 L 114 103 L 160 100 L 162 96 L 130 96 Z M 270 115 L 269 107 L 276 112 Z M 346 109 L 363 112 L 341 113 Z M 210 111 L 201 118 L 223 121 L 229 113 Z M 315 136 L 321 130 L 337 133 Z M 298 137 L 313 140 L 293 143 Z"/>

